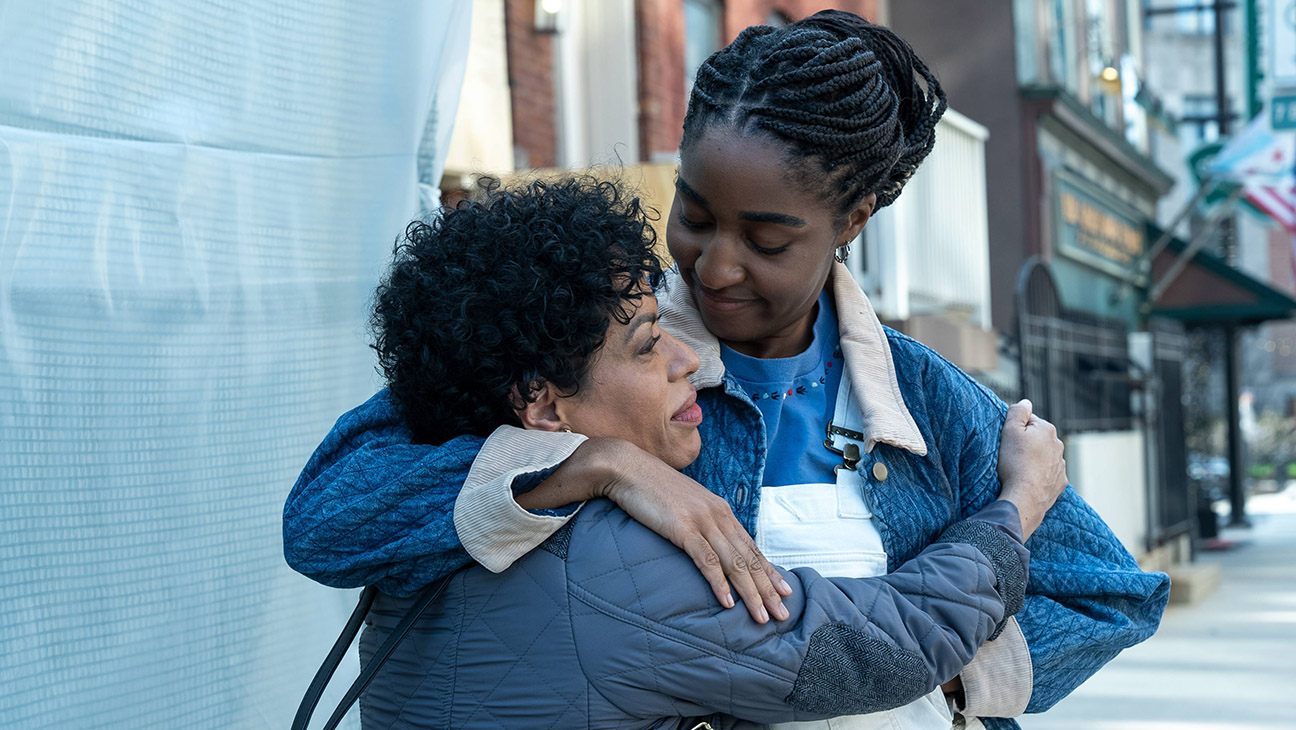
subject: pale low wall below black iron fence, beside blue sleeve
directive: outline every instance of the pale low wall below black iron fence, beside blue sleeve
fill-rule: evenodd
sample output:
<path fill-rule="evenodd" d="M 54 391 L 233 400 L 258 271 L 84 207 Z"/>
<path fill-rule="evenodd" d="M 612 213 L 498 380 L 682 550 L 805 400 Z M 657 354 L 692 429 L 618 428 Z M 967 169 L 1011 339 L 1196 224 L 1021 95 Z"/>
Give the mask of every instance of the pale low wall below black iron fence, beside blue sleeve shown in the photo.
<path fill-rule="evenodd" d="M 1147 472 L 1142 430 L 1067 437 L 1067 476 L 1135 556 L 1147 552 Z"/>

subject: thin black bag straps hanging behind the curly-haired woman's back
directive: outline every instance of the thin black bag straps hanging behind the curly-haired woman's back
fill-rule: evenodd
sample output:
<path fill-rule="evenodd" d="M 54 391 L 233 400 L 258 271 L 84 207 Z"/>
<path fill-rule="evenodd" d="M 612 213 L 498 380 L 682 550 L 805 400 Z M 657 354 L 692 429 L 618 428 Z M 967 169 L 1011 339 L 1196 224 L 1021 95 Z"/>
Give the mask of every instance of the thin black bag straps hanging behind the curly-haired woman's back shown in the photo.
<path fill-rule="evenodd" d="M 435 583 L 422 589 L 419 596 L 415 599 L 413 606 L 406 612 L 397 628 L 388 634 L 386 641 L 382 646 L 373 652 L 369 663 L 360 672 L 360 676 L 351 682 L 351 687 L 342 696 L 342 701 L 337 704 L 337 709 L 324 724 L 323 730 L 334 730 L 338 722 L 346 717 L 346 712 L 351 709 L 355 700 L 360 699 L 360 694 L 369 686 L 369 682 L 377 676 L 378 669 L 382 664 L 391 656 L 395 651 L 397 644 L 400 639 L 410 633 L 415 622 L 428 612 L 428 608 L 437 600 L 437 596 L 446 590 L 450 583 L 450 578 L 454 573 L 441 578 Z M 368 586 L 360 593 L 360 602 L 356 604 L 355 611 L 351 612 L 351 617 L 347 618 L 346 626 L 342 628 L 342 633 L 333 642 L 333 648 L 329 650 L 328 656 L 324 657 L 324 664 L 320 665 L 319 670 L 315 672 L 315 678 L 311 679 L 311 686 L 306 689 L 306 696 L 302 698 L 302 704 L 297 708 L 297 716 L 293 717 L 292 730 L 306 730 L 307 725 L 311 722 L 311 714 L 315 713 L 315 705 L 319 704 L 320 696 L 324 695 L 324 687 L 328 686 L 329 679 L 333 678 L 333 673 L 337 672 L 340 664 L 342 664 L 342 657 L 346 656 L 346 650 L 351 647 L 351 642 L 355 641 L 355 634 L 360 631 L 360 624 L 364 622 L 365 615 L 368 615 L 369 608 L 373 606 L 373 599 L 377 596 L 378 589 Z"/>

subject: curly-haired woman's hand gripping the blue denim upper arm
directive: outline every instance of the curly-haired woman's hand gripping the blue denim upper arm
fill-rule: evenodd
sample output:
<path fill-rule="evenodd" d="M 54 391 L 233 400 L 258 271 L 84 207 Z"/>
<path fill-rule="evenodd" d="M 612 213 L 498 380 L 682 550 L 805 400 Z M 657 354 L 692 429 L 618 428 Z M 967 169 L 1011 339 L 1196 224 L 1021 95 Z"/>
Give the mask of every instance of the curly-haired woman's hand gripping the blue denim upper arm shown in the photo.
<path fill-rule="evenodd" d="M 1032 410 L 1030 401 L 1011 406 L 999 441 L 999 497 L 1017 507 L 1023 539 L 1036 532 L 1067 489 L 1067 459 L 1058 429 Z"/>

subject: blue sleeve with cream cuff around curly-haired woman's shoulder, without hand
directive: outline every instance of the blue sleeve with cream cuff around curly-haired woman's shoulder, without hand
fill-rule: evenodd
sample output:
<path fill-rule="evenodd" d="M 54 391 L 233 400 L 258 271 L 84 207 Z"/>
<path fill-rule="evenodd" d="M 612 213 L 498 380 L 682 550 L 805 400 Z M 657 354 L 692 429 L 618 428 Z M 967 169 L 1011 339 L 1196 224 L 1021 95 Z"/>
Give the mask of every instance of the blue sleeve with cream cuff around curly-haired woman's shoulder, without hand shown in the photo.
<path fill-rule="evenodd" d="M 553 468 L 581 441 L 502 428 L 415 443 L 382 390 L 342 415 L 302 469 L 284 503 L 284 558 L 324 585 L 397 596 L 473 559 L 502 571 L 566 521 L 522 510 L 515 478 Z"/>

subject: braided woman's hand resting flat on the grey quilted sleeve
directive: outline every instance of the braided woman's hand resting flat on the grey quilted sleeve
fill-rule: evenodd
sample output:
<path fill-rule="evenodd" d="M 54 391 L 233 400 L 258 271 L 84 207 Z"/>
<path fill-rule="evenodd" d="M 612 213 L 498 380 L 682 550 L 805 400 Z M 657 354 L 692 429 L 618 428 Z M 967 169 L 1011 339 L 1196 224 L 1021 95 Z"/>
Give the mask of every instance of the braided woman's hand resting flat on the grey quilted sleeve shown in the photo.
<path fill-rule="evenodd" d="M 573 456 L 608 473 L 599 495 L 688 554 L 722 606 L 732 608 L 736 593 L 761 624 L 771 616 L 788 617 L 783 596 L 792 587 L 761 554 L 728 502 L 619 438 L 591 438 L 582 449 L 584 454 L 577 449 Z"/>

